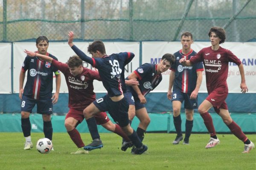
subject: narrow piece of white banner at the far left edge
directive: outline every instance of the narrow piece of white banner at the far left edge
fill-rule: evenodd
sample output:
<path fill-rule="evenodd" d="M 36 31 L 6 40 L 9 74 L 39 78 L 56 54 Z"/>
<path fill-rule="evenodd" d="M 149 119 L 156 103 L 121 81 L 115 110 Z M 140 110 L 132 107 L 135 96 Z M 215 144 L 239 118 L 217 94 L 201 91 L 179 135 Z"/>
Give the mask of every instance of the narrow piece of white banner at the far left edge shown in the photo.
<path fill-rule="evenodd" d="M 12 43 L 0 43 L 0 94 L 12 93 Z"/>

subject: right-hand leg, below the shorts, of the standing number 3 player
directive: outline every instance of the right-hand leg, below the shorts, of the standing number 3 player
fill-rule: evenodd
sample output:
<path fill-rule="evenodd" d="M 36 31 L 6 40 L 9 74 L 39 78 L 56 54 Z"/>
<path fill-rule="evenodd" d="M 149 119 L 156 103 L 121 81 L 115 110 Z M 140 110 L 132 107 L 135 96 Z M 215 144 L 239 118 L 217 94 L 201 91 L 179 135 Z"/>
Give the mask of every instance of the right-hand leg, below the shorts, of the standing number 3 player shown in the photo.
<path fill-rule="evenodd" d="M 193 109 L 185 109 L 186 113 L 186 123 L 185 123 L 185 138 L 183 144 L 189 144 L 189 137 L 193 128 Z"/>

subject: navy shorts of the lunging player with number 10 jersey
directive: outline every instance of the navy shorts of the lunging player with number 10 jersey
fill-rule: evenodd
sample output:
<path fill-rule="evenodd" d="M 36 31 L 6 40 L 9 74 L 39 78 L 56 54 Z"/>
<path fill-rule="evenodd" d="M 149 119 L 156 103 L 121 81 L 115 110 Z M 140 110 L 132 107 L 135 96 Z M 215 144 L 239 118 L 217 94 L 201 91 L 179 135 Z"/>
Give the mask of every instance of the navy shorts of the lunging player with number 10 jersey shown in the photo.
<path fill-rule="evenodd" d="M 110 116 L 119 126 L 125 127 L 129 124 L 129 104 L 125 97 L 118 102 L 113 102 L 107 94 L 96 99 L 93 104 L 102 112 L 108 111 Z"/>

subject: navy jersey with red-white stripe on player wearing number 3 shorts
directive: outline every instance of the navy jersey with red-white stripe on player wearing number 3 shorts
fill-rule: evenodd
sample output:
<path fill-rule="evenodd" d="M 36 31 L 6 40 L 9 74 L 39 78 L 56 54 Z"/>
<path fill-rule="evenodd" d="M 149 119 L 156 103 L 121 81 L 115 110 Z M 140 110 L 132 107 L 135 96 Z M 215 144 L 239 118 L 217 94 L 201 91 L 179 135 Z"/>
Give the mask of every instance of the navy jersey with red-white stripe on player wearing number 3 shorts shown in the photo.
<path fill-rule="evenodd" d="M 181 91 L 183 93 L 192 93 L 195 90 L 197 81 L 197 71 L 204 71 L 202 62 L 193 64 L 192 66 L 183 66 L 180 64 L 181 58 L 189 60 L 195 56 L 196 52 L 191 49 L 188 54 L 182 54 L 182 50 L 177 51 L 174 55 L 176 58 L 175 63 L 171 66 L 170 70 L 175 71 L 175 79 L 173 84 L 173 91 Z"/>

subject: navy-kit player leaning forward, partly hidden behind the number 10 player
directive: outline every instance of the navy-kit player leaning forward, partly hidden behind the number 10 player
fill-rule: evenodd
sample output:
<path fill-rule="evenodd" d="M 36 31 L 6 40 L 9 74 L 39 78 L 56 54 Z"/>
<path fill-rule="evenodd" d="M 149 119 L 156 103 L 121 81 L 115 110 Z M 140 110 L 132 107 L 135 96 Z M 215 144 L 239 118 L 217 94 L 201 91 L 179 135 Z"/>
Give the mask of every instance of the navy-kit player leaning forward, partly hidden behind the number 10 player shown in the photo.
<path fill-rule="evenodd" d="M 162 81 L 162 73 L 167 71 L 175 62 L 173 54 L 164 54 L 158 64 L 145 63 L 132 72 L 126 79 L 137 79 L 140 85 L 127 86 L 125 97 L 129 102 L 129 123 L 131 124 L 136 115 L 140 120 L 137 134 L 141 141 L 150 123 L 148 112 L 145 108 L 145 96 Z M 123 140 L 122 143 L 127 141 Z M 133 149 L 132 149 L 133 150 Z M 125 151 L 125 150 L 124 150 Z"/>

